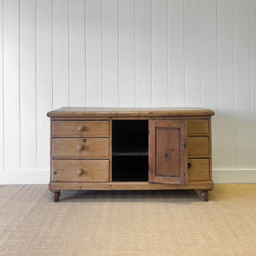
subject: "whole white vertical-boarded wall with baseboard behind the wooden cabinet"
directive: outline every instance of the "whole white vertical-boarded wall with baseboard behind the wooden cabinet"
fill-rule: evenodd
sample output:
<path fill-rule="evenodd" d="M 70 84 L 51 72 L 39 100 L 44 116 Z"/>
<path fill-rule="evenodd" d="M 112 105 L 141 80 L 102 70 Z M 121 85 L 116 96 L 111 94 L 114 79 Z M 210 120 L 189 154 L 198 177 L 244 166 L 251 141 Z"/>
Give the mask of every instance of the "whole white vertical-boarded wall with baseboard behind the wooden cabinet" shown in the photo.
<path fill-rule="evenodd" d="M 256 0 L 0 0 L 0 183 L 48 183 L 62 106 L 200 107 L 213 180 L 256 182 Z"/>

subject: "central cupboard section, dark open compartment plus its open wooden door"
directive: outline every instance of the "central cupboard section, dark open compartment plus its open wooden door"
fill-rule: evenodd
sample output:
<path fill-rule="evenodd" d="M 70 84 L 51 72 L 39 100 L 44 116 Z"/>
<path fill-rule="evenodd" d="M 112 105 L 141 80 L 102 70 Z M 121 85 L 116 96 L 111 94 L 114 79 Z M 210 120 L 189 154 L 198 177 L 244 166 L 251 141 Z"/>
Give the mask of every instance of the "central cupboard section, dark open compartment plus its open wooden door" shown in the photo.
<path fill-rule="evenodd" d="M 113 120 L 112 127 L 113 182 L 188 183 L 186 121 Z"/>

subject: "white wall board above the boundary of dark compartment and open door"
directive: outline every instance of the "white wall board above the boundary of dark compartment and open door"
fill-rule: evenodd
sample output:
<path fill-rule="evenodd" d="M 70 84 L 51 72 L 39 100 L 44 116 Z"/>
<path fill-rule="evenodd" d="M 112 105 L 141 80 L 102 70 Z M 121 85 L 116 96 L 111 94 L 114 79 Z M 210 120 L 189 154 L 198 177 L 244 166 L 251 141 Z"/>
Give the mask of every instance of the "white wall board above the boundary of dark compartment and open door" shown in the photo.
<path fill-rule="evenodd" d="M 150 1 L 135 1 L 136 106 L 151 107 Z"/>

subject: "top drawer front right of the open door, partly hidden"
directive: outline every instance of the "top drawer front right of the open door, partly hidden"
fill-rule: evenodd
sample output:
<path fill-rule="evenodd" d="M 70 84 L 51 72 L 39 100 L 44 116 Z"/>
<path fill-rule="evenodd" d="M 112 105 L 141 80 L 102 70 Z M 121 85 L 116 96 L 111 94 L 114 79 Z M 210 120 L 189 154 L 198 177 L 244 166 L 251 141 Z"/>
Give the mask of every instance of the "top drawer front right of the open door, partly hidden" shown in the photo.
<path fill-rule="evenodd" d="M 189 119 L 187 122 L 188 135 L 208 135 L 208 119 Z"/>

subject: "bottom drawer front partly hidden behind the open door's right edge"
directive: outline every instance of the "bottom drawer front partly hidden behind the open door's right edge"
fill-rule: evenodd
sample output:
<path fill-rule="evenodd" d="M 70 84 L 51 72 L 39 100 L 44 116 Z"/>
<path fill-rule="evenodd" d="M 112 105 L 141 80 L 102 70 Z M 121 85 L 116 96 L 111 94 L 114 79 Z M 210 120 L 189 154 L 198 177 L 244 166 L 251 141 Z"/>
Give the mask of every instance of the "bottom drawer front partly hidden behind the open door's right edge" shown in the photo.
<path fill-rule="evenodd" d="M 188 180 L 207 181 L 210 179 L 209 159 L 188 159 Z"/>

